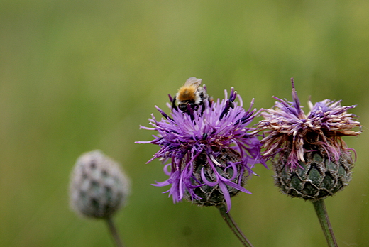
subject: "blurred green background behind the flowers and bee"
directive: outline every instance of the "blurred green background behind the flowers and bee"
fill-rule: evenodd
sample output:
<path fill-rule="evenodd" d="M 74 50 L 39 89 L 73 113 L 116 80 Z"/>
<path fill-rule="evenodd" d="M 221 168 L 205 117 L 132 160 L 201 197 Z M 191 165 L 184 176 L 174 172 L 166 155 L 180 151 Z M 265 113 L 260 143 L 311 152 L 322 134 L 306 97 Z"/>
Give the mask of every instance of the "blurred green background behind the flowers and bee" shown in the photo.
<path fill-rule="evenodd" d="M 126 246 L 241 246 L 214 208 L 172 199 L 148 141 L 154 105 L 189 77 L 244 104 L 343 99 L 368 131 L 369 1 L 0 1 L 0 246 L 113 246 L 102 221 L 79 219 L 67 187 L 77 157 L 99 148 L 132 180 L 116 215 Z M 155 112 L 156 116 L 159 116 Z M 256 119 L 260 120 L 260 119 Z M 153 132 L 153 133 L 151 133 Z M 340 246 L 369 243 L 368 135 L 353 180 L 326 199 Z M 255 169 L 231 214 L 254 246 L 326 246 L 310 202 Z"/>

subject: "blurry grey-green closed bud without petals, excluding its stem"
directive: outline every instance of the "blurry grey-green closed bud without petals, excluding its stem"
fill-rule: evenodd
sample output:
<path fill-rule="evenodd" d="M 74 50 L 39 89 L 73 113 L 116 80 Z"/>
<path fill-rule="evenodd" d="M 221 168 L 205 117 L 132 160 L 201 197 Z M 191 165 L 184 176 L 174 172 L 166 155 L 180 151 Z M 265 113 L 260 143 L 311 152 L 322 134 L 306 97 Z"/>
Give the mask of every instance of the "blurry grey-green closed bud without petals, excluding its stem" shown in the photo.
<path fill-rule="evenodd" d="M 70 204 L 78 214 L 112 216 L 126 201 L 129 182 L 119 164 L 94 150 L 77 159 L 70 181 Z"/>

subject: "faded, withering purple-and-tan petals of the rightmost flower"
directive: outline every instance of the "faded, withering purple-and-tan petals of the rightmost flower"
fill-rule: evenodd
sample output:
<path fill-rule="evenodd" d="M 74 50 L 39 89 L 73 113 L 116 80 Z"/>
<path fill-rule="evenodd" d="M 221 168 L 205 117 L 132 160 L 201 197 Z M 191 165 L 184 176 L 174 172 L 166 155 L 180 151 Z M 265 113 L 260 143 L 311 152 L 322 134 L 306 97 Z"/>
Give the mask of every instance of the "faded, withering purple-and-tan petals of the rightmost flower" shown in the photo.
<path fill-rule="evenodd" d="M 361 131 L 353 131 L 360 127 L 354 114 L 348 113 L 353 106 L 341 106 L 341 100 L 324 99 L 314 105 L 308 102 L 310 111 L 304 114 L 300 106 L 292 78 L 292 102 L 277 99 L 272 109 L 261 113 L 264 120 L 260 121 L 260 130 L 265 130 L 265 138 L 261 141 L 266 148 L 265 157 L 273 158 L 278 153 L 289 149 L 287 165 L 296 168 L 298 162 L 304 162 L 304 145 L 322 146 L 338 160 L 341 150 L 350 153 L 342 136 L 358 136 Z"/>

